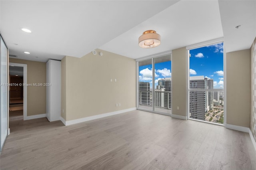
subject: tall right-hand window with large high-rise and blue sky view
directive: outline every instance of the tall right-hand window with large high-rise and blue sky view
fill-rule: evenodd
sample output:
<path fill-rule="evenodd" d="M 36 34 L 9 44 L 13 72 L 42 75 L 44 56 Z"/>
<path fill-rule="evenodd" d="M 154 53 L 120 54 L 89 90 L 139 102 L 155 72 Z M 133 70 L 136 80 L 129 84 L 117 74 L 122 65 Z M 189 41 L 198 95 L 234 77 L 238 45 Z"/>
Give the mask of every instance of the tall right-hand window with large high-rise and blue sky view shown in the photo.
<path fill-rule="evenodd" d="M 188 49 L 189 118 L 224 123 L 223 42 Z"/>

